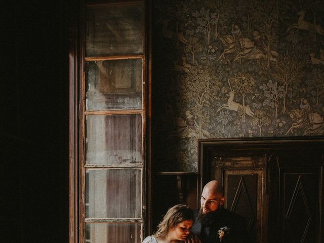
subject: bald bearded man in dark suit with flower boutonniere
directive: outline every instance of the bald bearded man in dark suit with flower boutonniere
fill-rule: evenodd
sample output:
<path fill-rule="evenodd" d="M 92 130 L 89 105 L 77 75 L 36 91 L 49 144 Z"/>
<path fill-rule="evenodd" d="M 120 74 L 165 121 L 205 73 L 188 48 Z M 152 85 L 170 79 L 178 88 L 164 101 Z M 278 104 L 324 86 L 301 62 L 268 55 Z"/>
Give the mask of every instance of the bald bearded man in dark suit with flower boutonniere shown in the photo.
<path fill-rule="evenodd" d="M 245 218 L 224 209 L 224 190 L 218 181 L 208 182 L 195 211 L 193 235 L 185 243 L 247 243 Z"/>

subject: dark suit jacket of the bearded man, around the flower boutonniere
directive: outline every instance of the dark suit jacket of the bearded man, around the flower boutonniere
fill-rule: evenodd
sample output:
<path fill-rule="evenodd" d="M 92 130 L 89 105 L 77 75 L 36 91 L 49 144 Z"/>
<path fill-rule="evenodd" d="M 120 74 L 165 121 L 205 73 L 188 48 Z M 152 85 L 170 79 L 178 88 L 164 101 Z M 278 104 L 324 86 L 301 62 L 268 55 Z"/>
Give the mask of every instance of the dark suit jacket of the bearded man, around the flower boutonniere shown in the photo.
<path fill-rule="evenodd" d="M 195 210 L 195 222 L 191 232 L 196 234 L 202 243 L 220 242 L 218 230 L 227 226 L 229 234 L 222 238 L 222 243 L 247 243 L 247 227 L 245 218 L 227 209 L 218 209 L 210 225 L 201 224 L 198 217 L 198 210 Z"/>

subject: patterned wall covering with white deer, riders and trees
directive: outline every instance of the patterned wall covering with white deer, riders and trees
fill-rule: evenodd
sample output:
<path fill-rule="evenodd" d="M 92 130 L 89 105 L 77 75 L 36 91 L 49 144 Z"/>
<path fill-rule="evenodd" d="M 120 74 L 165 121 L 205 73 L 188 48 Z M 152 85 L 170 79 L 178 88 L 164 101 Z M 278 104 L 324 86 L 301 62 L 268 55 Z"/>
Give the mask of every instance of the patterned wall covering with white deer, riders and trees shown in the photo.
<path fill-rule="evenodd" d="M 324 1 L 152 1 L 155 171 L 197 139 L 324 135 Z"/>

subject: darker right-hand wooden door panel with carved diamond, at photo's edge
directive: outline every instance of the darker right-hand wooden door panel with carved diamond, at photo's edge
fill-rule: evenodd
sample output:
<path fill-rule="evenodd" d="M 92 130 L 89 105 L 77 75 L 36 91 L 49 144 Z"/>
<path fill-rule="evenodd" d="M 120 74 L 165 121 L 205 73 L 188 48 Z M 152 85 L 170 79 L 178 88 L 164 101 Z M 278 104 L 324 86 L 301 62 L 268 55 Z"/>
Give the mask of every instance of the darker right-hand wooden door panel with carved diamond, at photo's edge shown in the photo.
<path fill-rule="evenodd" d="M 306 156 L 271 158 L 270 242 L 323 242 L 322 158 Z"/>

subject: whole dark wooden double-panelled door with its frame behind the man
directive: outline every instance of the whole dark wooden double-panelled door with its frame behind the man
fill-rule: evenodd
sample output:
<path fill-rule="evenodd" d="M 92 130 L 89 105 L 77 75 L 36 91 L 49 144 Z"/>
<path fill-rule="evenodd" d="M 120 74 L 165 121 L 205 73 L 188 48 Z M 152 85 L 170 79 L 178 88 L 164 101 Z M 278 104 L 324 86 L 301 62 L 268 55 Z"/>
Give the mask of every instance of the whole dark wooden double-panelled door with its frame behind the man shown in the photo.
<path fill-rule="evenodd" d="M 198 148 L 198 198 L 221 181 L 250 242 L 323 242 L 323 138 L 206 139 Z"/>

